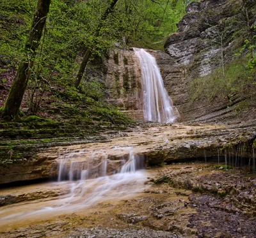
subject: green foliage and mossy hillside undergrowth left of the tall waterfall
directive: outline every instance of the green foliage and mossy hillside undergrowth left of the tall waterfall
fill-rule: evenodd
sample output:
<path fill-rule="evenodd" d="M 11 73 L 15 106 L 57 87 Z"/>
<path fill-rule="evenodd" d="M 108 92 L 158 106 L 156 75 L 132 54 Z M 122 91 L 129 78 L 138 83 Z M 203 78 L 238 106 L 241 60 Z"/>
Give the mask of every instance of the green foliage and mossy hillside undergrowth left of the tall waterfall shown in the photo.
<path fill-rule="evenodd" d="M 47 110 L 40 108 L 40 103 L 50 100 L 54 102 L 49 108 L 54 111 L 63 107 L 67 117 L 72 114 L 84 118 L 97 115 L 110 123 L 127 123 L 124 115 L 102 103 L 105 86 L 97 78 L 93 82 L 83 82 L 78 89 L 72 87 L 84 52 L 90 49 L 93 57 L 97 57 L 116 44 L 125 47 L 127 43 L 135 47 L 163 49 L 164 40 L 175 31 L 189 2 L 119 0 L 114 11 L 101 22 L 109 0 L 52 0 L 31 67 L 29 100 L 26 98 L 30 113 Z M 0 73 L 11 66 L 13 71 L 17 70 L 24 57 L 24 45 L 35 9 L 34 0 L 1 1 Z M 118 63 L 118 56 L 115 62 Z M 124 64 L 127 64 L 126 58 Z M 2 82 L 5 80 L 3 78 Z M 118 75 L 116 84 L 120 84 Z M 117 90 L 120 93 L 118 87 Z"/>

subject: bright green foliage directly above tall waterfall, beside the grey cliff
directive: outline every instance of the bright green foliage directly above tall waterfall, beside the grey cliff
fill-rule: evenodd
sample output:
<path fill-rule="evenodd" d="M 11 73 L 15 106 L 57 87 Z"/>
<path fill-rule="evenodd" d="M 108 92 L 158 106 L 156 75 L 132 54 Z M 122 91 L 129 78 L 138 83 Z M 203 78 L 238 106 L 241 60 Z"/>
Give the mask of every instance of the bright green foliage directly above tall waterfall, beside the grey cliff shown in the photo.
<path fill-rule="evenodd" d="M 186 6 L 191 2 L 119 1 L 116 9 L 116 18 L 122 25 L 119 34 L 134 47 L 163 50 L 164 41 L 177 30 L 176 24 L 186 14 Z"/>

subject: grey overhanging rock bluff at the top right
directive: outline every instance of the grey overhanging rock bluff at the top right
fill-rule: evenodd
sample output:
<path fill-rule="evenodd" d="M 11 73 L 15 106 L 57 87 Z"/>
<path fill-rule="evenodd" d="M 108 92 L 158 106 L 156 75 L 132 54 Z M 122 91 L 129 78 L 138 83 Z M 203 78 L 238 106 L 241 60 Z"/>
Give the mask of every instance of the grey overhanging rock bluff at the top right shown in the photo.
<path fill-rule="evenodd" d="M 221 66 L 221 38 L 225 63 L 255 22 L 255 1 L 204 0 L 192 3 L 177 33 L 166 41 L 166 52 L 182 65 L 193 64 L 193 76 L 205 76 Z"/>

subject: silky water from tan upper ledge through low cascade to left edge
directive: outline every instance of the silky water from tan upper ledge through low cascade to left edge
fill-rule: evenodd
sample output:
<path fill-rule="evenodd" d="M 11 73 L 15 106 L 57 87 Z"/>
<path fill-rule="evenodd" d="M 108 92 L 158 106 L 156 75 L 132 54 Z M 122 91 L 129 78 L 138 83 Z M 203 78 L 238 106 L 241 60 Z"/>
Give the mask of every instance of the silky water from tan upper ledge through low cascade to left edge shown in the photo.
<path fill-rule="evenodd" d="M 217 127 L 220 126 L 195 126 L 194 130 L 202 128 L 202 131 L 207 131 Z M 191 126 L 179 124 L 148 128 L 128 133 L 126 137 L 113 138 L 106 143 L 95 142 L 45 150 L 41 158 L 60 152 L 51 161 L 58 163 L 56 181 L 1 190 L 2 197 L 26 195 L 24 202 L 0 207 L 1 229 L 24 226 L 61 214 L 86 212 L 101 202 L 110 200 L 112 204 L 113 201 L 141 195 L 147 188 L 144 183 L 148 175 L 152 175 L 151 170 L 143 170 L 144 158 L 141 154 L 147 154 L 151 150 L 159 151 L 159 145 L 167 146 L 172 138 L 180 137 L 180 140 L 175 141 L 184 143 L 182 138 L 190 130 Z M 48 191 L 50 195 L 44 196 L 49 194 Z M 51 191 L 63 193 L 56 197 L 51 195 Z M 31 196 L 37 193 L 38 197 Z"/>

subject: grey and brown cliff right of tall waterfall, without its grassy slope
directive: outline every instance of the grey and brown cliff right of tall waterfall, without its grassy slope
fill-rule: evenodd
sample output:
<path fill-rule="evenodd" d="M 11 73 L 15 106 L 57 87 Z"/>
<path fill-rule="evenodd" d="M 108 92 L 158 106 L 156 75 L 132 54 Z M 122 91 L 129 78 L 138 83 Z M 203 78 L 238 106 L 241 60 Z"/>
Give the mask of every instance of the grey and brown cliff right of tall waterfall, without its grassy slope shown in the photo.
<path fill-rule="evenodd" d="M 253 31 L 255 16 L 255 0 L 202 0 L 188 6 L 177 33 L 164 45 L 166 53 L 175 61 L 174 68 L 183 72 L 180 77 L 177 74 L 177 79 L 172 78 L 172 82 L 164 77 L 168 91 L 173 91 L 182 121 L 228 121 L 236 117 L 232 107 L 237 103 L 250 98 L 252 104 L 253 91 L 236 93 L 229 101 L 227 97 L 218 97 L 209 103 L 204 95 L 191 101 L 189 84 L 193 78 L 209 75 L 222 62 L 227 64 L 235 58 L 237 48 Z"/>

